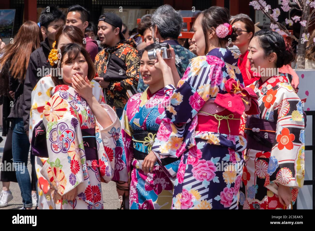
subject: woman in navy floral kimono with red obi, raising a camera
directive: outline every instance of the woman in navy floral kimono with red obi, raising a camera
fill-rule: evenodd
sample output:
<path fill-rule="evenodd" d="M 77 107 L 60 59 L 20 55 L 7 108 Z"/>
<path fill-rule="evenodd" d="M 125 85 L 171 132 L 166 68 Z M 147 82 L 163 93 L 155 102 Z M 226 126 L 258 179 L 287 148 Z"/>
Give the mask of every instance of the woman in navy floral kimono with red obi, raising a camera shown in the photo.
<path fill-rule="evenodd" d="M 239 135 L 240 116 L 258 108 L 252 89 L 243 88 L 238 55 L 225 49 L 236 39 L 228 21 L 222 7 L 198 15 L 192 41 L 199 56 L 177 88 L 173 64 L 158 54 L 166 107 L 153 151 L 159 162 L 180 157 L 177 175 L 163 166 L 176 176 L 173 209 L 238 209 L 241 151 L 246 146 Z"/>

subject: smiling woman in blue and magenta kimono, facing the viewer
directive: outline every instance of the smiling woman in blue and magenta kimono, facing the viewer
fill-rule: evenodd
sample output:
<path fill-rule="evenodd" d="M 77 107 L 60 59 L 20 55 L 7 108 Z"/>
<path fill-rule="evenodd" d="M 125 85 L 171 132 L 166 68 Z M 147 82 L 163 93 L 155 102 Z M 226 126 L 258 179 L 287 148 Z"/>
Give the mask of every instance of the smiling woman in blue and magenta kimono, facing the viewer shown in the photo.
<path fill-rule="evenodd" d="M 153 43 L 144 49 L 140 73 L 149 87 L 129 98 L 115 149 L 112 180 L 117 182 L 121 199 L 129 195 L 130 209 L 170 209 L 172 206 L 173 184 L 150 152 L 164 112 L 162 72 L 154 67 L 156 61 L 148 57 L 148 51 L 158 48 L 160 45 Z"/>

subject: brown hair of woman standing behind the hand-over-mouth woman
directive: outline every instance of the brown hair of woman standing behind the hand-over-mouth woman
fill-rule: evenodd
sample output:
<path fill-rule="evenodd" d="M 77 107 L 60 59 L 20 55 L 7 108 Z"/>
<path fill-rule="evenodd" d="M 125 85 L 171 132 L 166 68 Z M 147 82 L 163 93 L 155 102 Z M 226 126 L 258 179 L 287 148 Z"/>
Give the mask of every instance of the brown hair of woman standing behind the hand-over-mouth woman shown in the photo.
<path fill-rule="evenodd" d="M 62 25 L 59 27 L 58 32 L 56 33 L 56 47 L 58 47 L 58 40 L 61 35 L 65 35 L 72 41 L 72 43 L 77 43 L 83 45 L 84 47 L 86 45 L 83 43 L 84 36 L 82 31 L 75 26 Z"/>

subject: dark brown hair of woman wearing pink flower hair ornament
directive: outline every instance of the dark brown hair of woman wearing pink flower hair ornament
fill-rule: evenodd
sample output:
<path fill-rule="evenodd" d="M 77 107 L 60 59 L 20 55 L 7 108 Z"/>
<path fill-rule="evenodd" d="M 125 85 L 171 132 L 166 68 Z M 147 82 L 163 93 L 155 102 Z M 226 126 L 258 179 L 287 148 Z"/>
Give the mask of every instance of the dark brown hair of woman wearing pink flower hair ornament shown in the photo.
<path fill-rule="evenodd" d="M 203 29 L 204 39 L 206 42 L 206 48 L 204 53 L 207 54 L 209 51 L 208 44 L 208 32 L 212 31 L 212 27 L 217 28 L 219 25 L 229 23 L 229 11 L 224 7 L 212 6 L 209 9 L 203 10 L 198 16 L 201 17 L 200 24 Z M 197 20 L 196 18 L 196 20 Z M 195 20 L 195 21 L 196 21 Z M 232 27 L 232 34 L 227 35 L 225 38 L 219 38 L 221 47 L 225 47 L 228 41 L 235 42 L 237 37 L 236 28 Z"/>

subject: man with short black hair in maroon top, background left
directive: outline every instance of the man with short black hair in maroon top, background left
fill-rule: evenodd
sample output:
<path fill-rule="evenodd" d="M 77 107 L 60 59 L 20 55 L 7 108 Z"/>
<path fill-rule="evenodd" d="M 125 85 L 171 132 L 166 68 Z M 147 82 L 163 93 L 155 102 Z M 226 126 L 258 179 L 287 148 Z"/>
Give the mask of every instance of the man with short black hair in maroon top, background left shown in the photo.
<path fill-rule="evenodd" d="M 80 5 L 73 5 L 69 7 L 66 25 L 75 26 L 85 34 L 85 28 L 89 26 L 90 12 Z M 98 53 L 98 45 L 94 39 L 85 35 L 85 49 L 89 52 L 92 61 L 94 62 L 95 56 Z"/>

